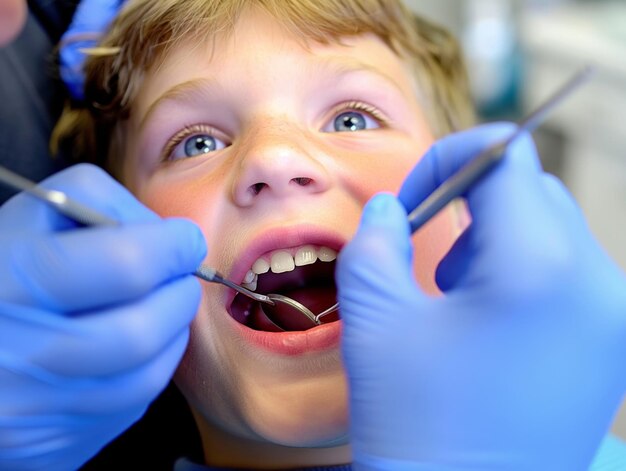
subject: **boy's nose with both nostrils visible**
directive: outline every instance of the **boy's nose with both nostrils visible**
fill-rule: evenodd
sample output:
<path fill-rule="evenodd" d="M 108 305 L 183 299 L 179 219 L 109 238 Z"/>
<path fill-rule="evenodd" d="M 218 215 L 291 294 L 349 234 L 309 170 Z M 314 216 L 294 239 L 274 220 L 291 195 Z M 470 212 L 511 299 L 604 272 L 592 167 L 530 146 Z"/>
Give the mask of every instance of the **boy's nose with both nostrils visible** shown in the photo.
<path fill-rule="evenodd" d="M 241 144 L 233 199 L 246 207 L 262 199 L 305 196 L 326 191 L 328 170 L 305 132 L 288 126 L 264 126 Z"/>

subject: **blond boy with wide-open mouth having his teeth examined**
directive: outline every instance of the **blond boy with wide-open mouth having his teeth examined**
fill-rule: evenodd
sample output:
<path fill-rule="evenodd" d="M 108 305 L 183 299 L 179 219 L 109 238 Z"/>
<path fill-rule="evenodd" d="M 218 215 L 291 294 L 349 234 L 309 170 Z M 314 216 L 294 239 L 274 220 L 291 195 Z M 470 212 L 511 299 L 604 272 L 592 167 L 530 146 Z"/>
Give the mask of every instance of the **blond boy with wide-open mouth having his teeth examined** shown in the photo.
<path fill-rule="evenodd" d="M 397 2 L 131 1 L 102 46 L 119 51 L 88 62 L 87 107 L 61 140 L 160 215 L 194 220 L 205 263 L 315 312 L 334 303 L 363 204 L 471 123 L 454 42 Z M 426 291 L 465 223 L 450 208 L 414 237 Z M 339 334 L 270 331 L 258 306 L 205 285 L 175 380 L 206 464 L 349 463 Z"/>

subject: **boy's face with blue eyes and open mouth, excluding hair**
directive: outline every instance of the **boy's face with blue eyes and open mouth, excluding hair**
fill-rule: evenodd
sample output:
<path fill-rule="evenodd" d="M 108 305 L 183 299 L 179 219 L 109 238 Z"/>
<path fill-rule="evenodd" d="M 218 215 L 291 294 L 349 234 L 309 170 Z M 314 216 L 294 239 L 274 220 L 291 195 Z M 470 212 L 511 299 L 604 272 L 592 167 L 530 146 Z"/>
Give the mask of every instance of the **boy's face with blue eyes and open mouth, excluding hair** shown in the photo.
<path fill-rule="evenodd" d="M 205 262 L 242 282 L 277 250 L 340 250 L 363 204 L 399 188 L 433 141 L 416 94 L 408 65 L 375 36 L 306 49 L 250 10 L 229 39 L 213 49 L 187 43 L 146 75 L 127 128 L 125 180 L 163 216 L 197 222 Z M 448 213 L 415 237 L 416 277 L 430 292 L 454 235 Z M 233 292 L 203 288 L 176 376 L 196 411 L 248 438 L 341 442 L 340 322 L 256 331 L 229 314 Z"/>

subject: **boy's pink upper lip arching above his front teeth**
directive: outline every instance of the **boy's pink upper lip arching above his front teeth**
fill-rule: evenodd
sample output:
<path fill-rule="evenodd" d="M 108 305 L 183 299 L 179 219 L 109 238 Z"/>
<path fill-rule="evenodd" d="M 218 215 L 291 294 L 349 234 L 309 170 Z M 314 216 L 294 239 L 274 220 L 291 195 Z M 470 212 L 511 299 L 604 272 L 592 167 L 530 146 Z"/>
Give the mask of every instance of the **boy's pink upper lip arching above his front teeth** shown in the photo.
<path fill-rule="evenodd" d="M 297 225 L 270 229 L 255 237 L 239 254 L 231 267 L 228 278 L 241 283 L 252 264 L 262 255 L 274 250 L 299 247 L 306 244 L 324 246 L 339 252 L 346 238 L 334 230 L 317 225 Z M 229 293 L 227 306 L 232 303 L 235 292 Z"/>

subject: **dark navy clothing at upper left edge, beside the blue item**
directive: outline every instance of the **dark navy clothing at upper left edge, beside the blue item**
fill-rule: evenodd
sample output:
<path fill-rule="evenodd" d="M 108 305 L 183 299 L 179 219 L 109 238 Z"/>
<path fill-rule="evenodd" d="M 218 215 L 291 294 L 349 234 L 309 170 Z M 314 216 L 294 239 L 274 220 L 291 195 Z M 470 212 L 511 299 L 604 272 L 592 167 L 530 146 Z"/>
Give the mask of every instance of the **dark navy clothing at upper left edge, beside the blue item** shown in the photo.
<path fill-rule="evenodd" d="M 21 34 L 0 48 L 0 164 L 39 181 L 64 167 L 48 152 L 64 100 L 53 48 L 76 0 L 31 1 Z M 0 204 L 15 191 L 0 187 Z"/>

